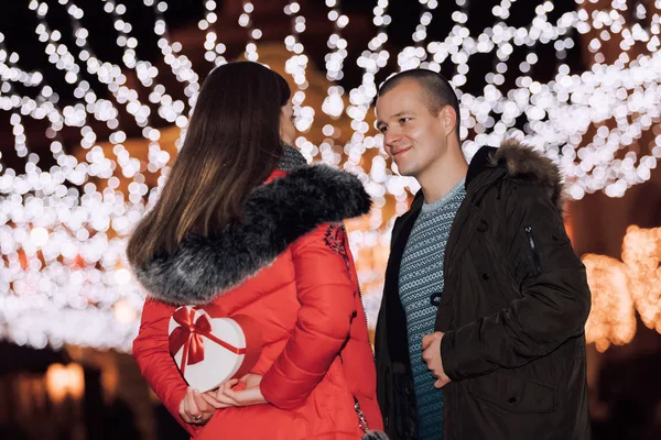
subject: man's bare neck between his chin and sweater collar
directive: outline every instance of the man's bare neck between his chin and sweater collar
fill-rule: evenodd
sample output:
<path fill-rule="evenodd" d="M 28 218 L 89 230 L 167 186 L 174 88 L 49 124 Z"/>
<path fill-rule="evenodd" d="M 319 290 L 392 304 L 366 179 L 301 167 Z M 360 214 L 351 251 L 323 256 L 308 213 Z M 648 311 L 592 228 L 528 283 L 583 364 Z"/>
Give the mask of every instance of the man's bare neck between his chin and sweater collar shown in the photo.
<path fill-rule="evenodd" d="M 422 188 L 424 201 L 433 204 L 443 196 L 447 195 L 468 173 L 468 163 L 462 153 L 462 150 L 448 147 L 445 157 L 440 158 L 424 173 L 416 176 L 418 183 Z"/>

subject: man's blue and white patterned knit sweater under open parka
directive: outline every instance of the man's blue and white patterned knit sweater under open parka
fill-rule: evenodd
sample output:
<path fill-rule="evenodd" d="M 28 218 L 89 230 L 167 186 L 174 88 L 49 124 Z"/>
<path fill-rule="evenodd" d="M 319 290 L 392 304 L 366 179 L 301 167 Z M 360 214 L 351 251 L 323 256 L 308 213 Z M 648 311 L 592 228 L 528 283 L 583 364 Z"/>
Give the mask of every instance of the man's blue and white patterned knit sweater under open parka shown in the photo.
<path fill-rule="evenodd" d="M 443 292 L 443 257 L 452 222 L 464 201 L 464 180 L 441 199 L 422 206 L 404 249 L 399 292 L 407 314 L 409 355 L 418 407 L 418 439 L 443 439 L 443 392 L 422 360 L 422 337 L 434 331 Z"/>

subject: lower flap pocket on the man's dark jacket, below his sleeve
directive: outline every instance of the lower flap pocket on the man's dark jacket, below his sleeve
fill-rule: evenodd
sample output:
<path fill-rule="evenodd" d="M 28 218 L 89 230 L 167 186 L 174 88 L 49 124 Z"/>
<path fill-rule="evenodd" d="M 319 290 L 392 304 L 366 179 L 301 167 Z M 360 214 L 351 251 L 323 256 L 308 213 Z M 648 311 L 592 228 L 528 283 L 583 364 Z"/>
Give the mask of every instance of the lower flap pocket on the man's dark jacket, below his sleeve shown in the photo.
<path fill-rule="evenodd" d="M 470 380 L 468 392 L 507 413 L 544 414 L 557 407 L 557 388 L 530 378 L 491 373 Z"/>

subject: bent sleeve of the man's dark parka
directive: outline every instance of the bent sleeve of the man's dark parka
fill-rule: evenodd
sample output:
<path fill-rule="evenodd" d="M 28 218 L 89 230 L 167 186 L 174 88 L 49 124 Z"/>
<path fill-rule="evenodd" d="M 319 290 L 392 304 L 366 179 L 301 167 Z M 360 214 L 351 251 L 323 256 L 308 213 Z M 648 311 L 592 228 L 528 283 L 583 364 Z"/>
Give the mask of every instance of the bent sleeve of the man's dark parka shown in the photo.
<path fill-rule="evenodd" d="M 502 311 L 448 331 L 441 343 L 445 374 L 475 377 L 513 369 L 583 334 L 590 308 L 585 266 L 545 191 L 512 185 L 505 197 L 500 252 L 509 260 L 520 298 Z"/>

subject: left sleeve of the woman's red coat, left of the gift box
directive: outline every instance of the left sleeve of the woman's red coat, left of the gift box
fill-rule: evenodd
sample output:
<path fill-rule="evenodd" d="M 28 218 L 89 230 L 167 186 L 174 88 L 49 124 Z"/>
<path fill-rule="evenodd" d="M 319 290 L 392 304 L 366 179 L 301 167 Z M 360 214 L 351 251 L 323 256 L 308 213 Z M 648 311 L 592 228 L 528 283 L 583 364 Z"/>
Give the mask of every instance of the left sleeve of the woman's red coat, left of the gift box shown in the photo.
<path fill-rule="evenodd" d="M 186 395 L 187 384 L 170 355 L 167 327 L 173 311 L 174 307 L 147 298 L 140 330 L 133 341 L 133 359 L 165 408 L 192 437 L 195 437 L 201 428 L 186 424 L 178 415 L 178 406 Z"/>

